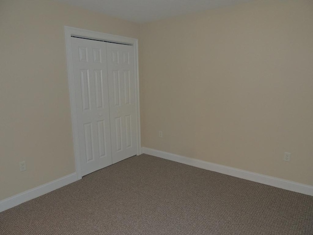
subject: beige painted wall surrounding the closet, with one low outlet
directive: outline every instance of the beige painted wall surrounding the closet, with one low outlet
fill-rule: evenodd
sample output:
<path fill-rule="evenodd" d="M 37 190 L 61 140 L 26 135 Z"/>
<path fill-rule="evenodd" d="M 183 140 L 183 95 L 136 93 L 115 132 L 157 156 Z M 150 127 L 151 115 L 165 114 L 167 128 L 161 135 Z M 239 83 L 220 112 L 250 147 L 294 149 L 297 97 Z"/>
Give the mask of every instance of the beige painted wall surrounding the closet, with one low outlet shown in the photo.
<path fill-rule="evenodd" d="M 0 1 L 1 200 L 75 172 L 65 25 L 139 37 L 138 24 L 64 3 Z"/>

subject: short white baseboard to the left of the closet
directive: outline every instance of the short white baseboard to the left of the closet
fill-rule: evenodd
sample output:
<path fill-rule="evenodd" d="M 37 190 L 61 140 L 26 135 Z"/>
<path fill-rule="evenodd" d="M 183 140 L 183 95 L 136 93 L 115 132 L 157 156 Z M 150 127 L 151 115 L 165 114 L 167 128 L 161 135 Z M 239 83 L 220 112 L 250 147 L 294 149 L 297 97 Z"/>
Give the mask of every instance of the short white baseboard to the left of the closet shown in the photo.
<path fill-rule="evenodd" d="M 77 174 L 72 173 L 69 175 L 66 175 L 62 178 L 59 178 L 57 180 L 51 181 L 49 183 L 46 183 L 44 185 L 38 186 L 36 188 L 29 189 L 27 191 L 24 191 L 22 193 L 19 193 L 17 195 L 14 195 L 12 197 L 6 198 L 4 200 L 0 201 L 0 212 L 5 211 L 7 209 L 10 209 L 12 207 L 15 207 L 17 205 L 20 205 L 23 202 L 27 202 L 31 199 L 34 199 L 36 197 L 39 197 L 41 195 L 44 195 L 45 193 L 51 192 L 57 188 L 61 188 L 63 186 L 66 186 L 70 183 L 73 183 L 77 181 Z"/>

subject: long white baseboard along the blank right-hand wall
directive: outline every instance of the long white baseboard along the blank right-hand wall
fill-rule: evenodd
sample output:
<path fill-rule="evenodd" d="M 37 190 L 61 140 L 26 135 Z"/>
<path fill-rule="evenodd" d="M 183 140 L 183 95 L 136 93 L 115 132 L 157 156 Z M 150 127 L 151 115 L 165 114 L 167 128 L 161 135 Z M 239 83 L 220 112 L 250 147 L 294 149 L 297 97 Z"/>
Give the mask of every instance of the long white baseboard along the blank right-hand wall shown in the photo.
<path fill-rule="evenodd" d="M 177 154 L 163 152 L 163 151 L 152 149 L 152 148 L 142 147 L 141 152 L 152 155 L 152 156 L 156 156 L 159 158 L 171 160 L 174 162 L 192 165 L 192 166 L 196 166 L 202 169 L 219 172 L 225 175 L 231 175 L 231 176 L 235 176 L 241 179 L 250 180 L 250 181 L 257 182 L 257 183 L 273 186 L 276 188 L 283 188 L 283 189 L 287 189 L 290 191 L 299 192 L 299 193 L 313 196 L 313 186 L 310 186 L 310 185 L 304 185 L 304 184 L 296 183 L 293 181 L 283 180 L 280 178 L 262 175 L 262 174 L 254 173 L 251 171 L 241 170 L 241 169 L 237 169 L 237 168 L 233 168 L 233 167 L 229 167 L 225 165 L 209 163 L 209 162 L 201 161 L 198 159 L 187 158 L 187 157 L 183 157 Z"/>

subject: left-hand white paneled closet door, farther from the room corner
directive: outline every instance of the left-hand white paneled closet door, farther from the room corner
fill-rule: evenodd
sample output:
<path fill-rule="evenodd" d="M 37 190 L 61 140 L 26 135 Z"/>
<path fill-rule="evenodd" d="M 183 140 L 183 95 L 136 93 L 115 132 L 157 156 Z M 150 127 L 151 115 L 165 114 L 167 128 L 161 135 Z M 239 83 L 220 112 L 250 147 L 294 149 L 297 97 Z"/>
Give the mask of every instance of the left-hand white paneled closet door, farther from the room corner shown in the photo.
<path fill-rule="evenodd" d="M 72 38 L 82 176 L 112 164 L 106 43 Z"/>

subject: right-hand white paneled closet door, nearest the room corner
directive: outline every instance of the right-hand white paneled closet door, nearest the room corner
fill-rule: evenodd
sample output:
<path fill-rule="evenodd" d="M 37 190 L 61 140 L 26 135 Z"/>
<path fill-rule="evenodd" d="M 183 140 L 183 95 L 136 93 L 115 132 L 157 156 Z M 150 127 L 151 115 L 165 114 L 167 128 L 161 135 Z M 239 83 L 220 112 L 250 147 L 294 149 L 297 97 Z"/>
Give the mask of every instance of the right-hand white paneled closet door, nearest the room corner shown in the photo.
<path fill-rule="evenodd" d="M 112 162 L 136 155 L 133 46 L 107 43 Z"/>

